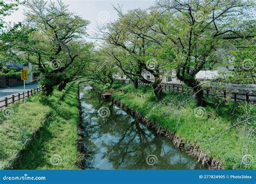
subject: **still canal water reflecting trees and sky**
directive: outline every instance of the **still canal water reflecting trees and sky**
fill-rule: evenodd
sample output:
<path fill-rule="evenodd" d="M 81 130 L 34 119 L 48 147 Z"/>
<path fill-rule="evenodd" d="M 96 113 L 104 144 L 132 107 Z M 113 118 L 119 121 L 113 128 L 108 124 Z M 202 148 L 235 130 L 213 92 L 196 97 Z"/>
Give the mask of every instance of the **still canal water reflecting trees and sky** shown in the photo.
<path fill-rule="evenodd" d="M 90 86 L 80 87 L 88 169 L 206 169 Z"/>

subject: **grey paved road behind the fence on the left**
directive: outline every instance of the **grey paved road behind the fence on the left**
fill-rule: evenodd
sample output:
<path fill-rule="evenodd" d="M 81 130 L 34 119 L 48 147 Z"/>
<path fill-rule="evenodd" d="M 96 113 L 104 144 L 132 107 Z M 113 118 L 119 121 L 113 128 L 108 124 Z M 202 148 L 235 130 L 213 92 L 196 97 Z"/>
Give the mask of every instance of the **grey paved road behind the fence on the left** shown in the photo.
<path fill-rule="evenodd" d="M 39 87 L 38 84 L 26 84 L 26 90 L 34 89 Z M 5 97 L 11 97 L 12 95 L 23 94 L 23 86 L 0 88 L 0 101 L 4 100 Z M 0 107 L 4 105 L 4 102 L 0 102 Z"/>

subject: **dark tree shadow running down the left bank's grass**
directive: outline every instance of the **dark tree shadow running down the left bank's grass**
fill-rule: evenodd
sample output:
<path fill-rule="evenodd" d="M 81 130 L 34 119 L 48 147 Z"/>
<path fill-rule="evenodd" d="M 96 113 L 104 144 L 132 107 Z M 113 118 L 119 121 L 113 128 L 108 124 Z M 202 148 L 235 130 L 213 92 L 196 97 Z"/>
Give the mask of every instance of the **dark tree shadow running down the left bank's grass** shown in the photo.
<path fill-rule="evenodd" d="M 51 165 L 50 158 L 47 158 L 46 156 L 46 150 L 49 149 L 48 144 L 52 141 L 52 139 L 56 138 L 52 134 L 53 130 L 50 125 L 54 123 L 58 117 L 65 120 L 70 120 L 75 114 L 72 111 L 69 111 L 69 109 L 72 107 L 78 107 L 76 102 L 65 102 L 66 97 L 70 97 L 72 99 L 72 96 L 75 96 L 75 93 L 77 93 L 76 87 L 71 87 L 68 91 L 65 91 L 65 93 L 68 94 L 66 94 L 64 97 L 63 103 L 65 103 L 67 106 L 60 110 L 57 108 L 59 107 L 60 103 L 49 101 L 48 106 L 53 110 L 52 114 L 55 114 L 56 116 L 50 118 L 50 120 L 43 125 L 42 129 L 32 140 L 32 143 L 22 151 L 21 157 L 19 157 L 14 164 L 14 169 L 38 169 L 42 167 L 53 167 L 53 165 Z"/>

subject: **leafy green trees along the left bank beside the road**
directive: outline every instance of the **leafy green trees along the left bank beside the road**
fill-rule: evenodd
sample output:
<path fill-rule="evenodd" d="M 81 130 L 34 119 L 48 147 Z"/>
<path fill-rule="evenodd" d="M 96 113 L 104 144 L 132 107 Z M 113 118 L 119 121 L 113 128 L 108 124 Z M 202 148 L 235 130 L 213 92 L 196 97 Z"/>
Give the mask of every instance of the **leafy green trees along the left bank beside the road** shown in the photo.
<path fill-rule="evenodd" d="M 33 72 L 41 74 L 46 95 L 55 86 L 62 90 L 68 82 L 85 76 L 93 49 L 84 41 L 88 20 L 71 13 L 61 1 L 30 0 L 22 3 L 27 8 L 25 21 L 13 25 L 4 22 L 4 16 L 21 3 L 0 3 L 2 66 L 6 62 L 32 63 Z"/>

